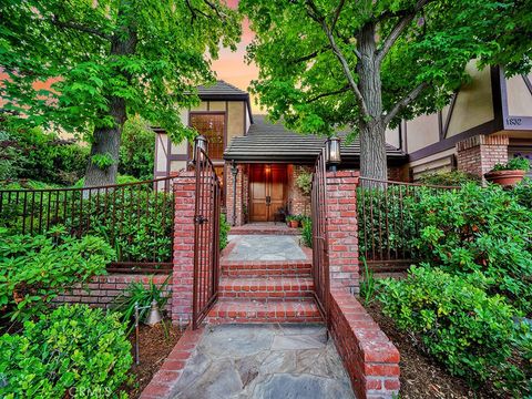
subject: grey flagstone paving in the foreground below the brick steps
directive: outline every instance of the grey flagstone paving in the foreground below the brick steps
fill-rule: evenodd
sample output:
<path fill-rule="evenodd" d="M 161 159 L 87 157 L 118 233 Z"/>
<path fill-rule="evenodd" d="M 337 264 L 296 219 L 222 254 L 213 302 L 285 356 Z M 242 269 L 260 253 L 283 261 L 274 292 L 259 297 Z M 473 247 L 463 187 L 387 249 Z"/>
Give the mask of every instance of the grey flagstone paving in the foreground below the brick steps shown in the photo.
<path fill-rule="evenodd" d="M 206 327 L 175 399 L 355 399 L 321 325 Z"/>

